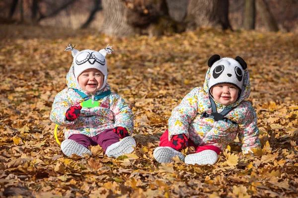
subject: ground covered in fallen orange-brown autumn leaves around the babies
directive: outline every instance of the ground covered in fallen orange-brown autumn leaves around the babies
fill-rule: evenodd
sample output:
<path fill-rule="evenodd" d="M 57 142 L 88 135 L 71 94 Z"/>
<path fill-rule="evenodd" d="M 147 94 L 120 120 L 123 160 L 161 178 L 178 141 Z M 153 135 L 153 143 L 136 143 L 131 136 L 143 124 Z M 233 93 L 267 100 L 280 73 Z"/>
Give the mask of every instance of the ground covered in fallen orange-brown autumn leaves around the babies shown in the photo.
<path fill-rule="evenodd" d="M 0 197 L 298 196 L 298 35 L 200 29 L 120 40 L 7 25 L 0 32 Z M 113 46 L 108 82 L 133 109 L 134 153 L 109 158 L 97 146 L 91 156 L 66 157 L 56 143 L 49 115 L 66 87 L 70 43 L 78 50 Z M 215 53 L 248 63 L 262 149 L 243 156 L 235 140 L 213 166 L 157 163 L 152 152 L 171 110 L 203 85 Z"/>

